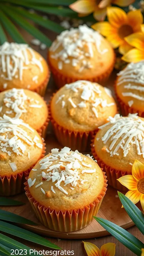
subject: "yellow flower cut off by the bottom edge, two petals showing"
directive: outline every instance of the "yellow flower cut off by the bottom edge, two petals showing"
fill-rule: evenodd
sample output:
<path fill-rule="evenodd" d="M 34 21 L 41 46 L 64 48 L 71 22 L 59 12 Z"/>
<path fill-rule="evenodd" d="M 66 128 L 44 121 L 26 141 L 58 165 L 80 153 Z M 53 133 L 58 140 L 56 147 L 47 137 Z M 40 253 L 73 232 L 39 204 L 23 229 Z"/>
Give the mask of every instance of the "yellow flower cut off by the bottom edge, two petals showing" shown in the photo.
<path fill-rule="evenodd" d="M 106 243 L 99 248 L 93 244 L 88 242 L 83 242 L 86 253 L 88 256 L 114 256 L 116 245 L 115 243 Z"/>

